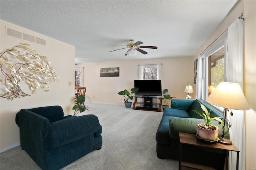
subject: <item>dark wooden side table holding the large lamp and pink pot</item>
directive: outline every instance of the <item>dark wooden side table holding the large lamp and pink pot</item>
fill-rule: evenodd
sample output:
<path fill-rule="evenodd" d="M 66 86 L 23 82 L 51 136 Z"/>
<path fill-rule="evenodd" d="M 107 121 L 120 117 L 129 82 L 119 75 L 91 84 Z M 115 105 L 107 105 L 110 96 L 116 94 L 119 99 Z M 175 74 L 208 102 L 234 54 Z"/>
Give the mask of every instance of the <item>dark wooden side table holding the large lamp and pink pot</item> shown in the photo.
<path fill-rule="evenodd" d="M 197 168 L 198 165 L 188 163 L 188 162 L 182 162 L 182 144 L 190 144 L 200 147 L 206 147 L 206 148 L 214 148 L 214 149 L 220 149 L 220 150 L 226 150 L 226 170 L 228 170 L 228 155 L 229 151 L 236 152 L 236 170 L 238 170 L 238 162 L 239 162 L 239 150 L 236 148 L 234 144 L 232 145 L 226 145 L 226 144 L 220 144 L 219 142 L 215 143 L 207 143 L 202 140 L 200 140 L 198 137 L 196 137 L 195 134 L 189 134 L 189 133 L 182 133 L 179 132 L 180 135 L 180 160 L 179 160 L 179 170 L 181 170 L 181 167 L 190 167 L 190 168 Z M 200 168 L 204 169 L 210 169 L 209 167 L 200 165 Z"/>

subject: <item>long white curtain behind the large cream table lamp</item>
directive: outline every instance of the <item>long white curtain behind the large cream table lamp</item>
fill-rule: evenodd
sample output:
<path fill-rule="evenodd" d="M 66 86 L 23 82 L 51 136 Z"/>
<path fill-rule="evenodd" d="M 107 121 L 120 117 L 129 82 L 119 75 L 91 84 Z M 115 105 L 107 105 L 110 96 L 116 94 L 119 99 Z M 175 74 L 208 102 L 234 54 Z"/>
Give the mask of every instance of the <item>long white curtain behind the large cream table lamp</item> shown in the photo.
<path fill-rule="evenodd" d="M 239 83 L 243 89 L 244 75 L 244 21 L 238 18 L 228 27 L 228 52 L 226 56 L 226 79 L 228 82 Z M 245 128 L 244 111 L 232 110 L 228 114 L 231 123 L 230 139 L 240 150 L 239 170 L 245 169 Z M 236 152 L 230 152 L 229 169 L 236 169 Z"/>

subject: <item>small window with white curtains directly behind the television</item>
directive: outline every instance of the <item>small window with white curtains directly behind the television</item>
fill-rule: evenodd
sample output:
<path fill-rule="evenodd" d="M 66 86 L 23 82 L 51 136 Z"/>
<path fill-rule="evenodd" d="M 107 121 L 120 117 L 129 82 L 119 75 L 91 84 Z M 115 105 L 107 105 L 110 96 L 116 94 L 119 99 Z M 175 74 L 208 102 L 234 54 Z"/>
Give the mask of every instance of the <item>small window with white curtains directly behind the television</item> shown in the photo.
<path fill-rule="evenodd" d="M 160 65 L 161 64 L 140 65 L 139 79 L 140 80 L 159 80 Z"/>

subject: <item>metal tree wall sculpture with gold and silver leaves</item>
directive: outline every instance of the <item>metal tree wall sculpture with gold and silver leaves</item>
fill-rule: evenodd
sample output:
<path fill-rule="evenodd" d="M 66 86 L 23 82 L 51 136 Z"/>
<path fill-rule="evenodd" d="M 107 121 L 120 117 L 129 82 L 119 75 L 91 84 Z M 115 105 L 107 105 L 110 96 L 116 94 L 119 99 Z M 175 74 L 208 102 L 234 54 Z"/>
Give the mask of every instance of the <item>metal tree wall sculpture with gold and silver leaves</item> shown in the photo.
<path fill-rule="evenodd" d="M 24 43 L 0 53 L 0 82 L 4 82 L 6 87 L 0 98 L 13 100 L 20 96 L 30 96 L 22 91 L 22 80 L 26 81 L 32 93 L 36 93 L 39 87 L 49 91 L 47 84 L 58 81 L 59 77 L 54 68 L 50 67 L 48 57 L 39 55 L 28 46 Z"/>

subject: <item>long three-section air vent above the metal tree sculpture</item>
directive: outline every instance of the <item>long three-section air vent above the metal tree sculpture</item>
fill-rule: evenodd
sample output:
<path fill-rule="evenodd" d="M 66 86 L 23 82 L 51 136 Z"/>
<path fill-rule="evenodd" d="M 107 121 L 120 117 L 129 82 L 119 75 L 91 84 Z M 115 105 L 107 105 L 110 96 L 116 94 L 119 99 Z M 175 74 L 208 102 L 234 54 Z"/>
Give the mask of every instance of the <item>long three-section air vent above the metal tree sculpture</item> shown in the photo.
<path fill-rule="evenodd" d="M 32 36 L 32 35 L 28 35 L 28 34 L 25 34 L 25 33 L 22 33 L 22 32 L 18 32 L 16 30 L 13 30 L 13 29 L 10 29 L 10 28 L 7 28 L 7 27 L 6 27 L 5 31 L 6 31 L 5 35 L 8 36 L 8 37 L 18 38 L 18 39 L 21 39 L 21 40 L 25 40 L 25 41 L 28 41 L 28 42 L 32 42 L 32 43 L 36 43 L 36 44 L 46 46 L 46 40 L 43 40 L 42 38 L 38 38 L 36 36 Z"/>

